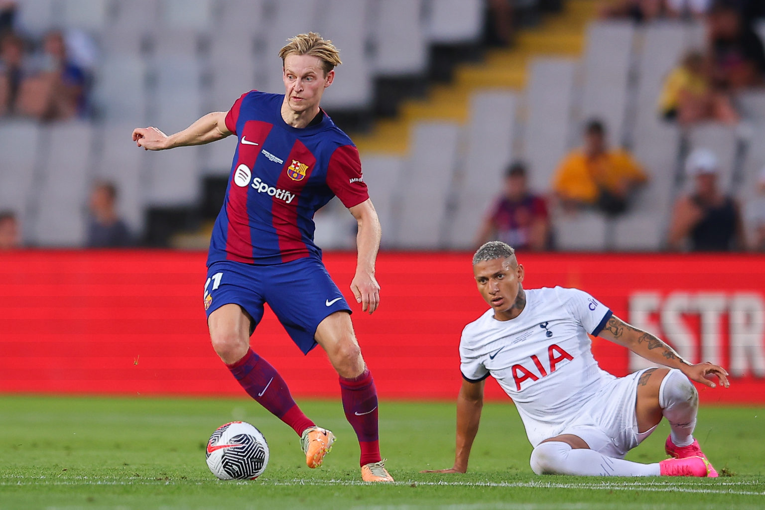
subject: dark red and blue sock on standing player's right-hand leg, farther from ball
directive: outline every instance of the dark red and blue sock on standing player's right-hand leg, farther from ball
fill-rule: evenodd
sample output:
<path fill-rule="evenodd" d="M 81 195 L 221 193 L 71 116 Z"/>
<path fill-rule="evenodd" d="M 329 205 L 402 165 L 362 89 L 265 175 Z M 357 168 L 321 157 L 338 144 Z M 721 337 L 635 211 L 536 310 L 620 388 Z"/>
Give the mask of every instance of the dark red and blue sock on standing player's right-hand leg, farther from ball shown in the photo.
<path fill-rule="evenodd" d="M 340 377 L 340 395 L 345 417 L 359 438 L 360 465 L 379 462 L 377 388 L 369 369 L 352 379 Z"/>

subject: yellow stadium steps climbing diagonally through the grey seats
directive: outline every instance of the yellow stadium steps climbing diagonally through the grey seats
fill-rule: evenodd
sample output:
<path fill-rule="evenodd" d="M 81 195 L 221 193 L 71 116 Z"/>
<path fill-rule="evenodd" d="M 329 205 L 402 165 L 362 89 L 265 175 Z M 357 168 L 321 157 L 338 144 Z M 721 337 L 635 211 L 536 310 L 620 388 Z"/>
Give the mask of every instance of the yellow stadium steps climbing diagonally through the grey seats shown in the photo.
<path fill-rule="evenodd" d="M 481 62 L 458 65 L 451 83 L 432 86 L 424 99 L 406 100 L 395 119 L 376 122 L 368 134 L 352 135 L 353 141 L 361 154 L 408 154 L 415 122 L 467 122 L 471 93 L 479 89 L 521 90 L 526 86 L 532 58 L 581 54 L 585 28 L 596 11 L 593 0 L 565 2 L 560 13 L 545 16 L 538 27 L 519 31 L 511 47 L 488 50 Z"/>

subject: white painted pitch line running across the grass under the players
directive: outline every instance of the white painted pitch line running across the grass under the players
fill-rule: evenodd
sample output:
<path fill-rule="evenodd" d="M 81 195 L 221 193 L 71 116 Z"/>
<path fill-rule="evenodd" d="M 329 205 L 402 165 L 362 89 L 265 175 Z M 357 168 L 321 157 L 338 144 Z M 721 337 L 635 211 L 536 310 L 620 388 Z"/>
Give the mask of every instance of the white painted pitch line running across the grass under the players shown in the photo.
<path fill-rule="evenodd" d="M 168 486 L 168 485 L 202 485 L 203 482 L 179 482 L 175 480 L 151 480 L 151 479 L 48 479 L 40 477 L 9 476 L 17 479 L 16 482 L 0 482 L 0 486 Z M 23 481 L 22 481 L 23 480 Z M 368 486 L 369 482 L 356 480 L 269 480 L 262 479 L 259 482 L 219 482 L 233 483 L 236 485 L 265 485 L 265 486 Z M 474 487 L 497 487 L 497 488 L 532 488 L 532 489 L 586 489 L 586 490 L 642 490 L 646 492 L 686 492 L 690 494 L 721 494 L 721 495 L 765 495 L 765 491 L 736 490 L 735 487 L 759 485 L 758 481 L 742 482 L 718 482 L 715 486 L 725 489 L 703 487 L 698 485 L 662 484 L 659 482 L 598 482 L 598 483 L 558 483 L 558 482 L 419 482 L 415 480 L 392 482 L 393 486 L 474 486 Z"/>

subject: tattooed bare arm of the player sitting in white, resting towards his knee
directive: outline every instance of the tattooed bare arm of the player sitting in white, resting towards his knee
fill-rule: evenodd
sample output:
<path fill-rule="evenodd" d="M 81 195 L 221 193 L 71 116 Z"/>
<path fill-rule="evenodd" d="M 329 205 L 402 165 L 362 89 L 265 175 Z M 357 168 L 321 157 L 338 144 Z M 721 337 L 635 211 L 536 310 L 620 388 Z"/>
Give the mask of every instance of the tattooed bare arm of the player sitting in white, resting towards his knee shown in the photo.
<path fill-rule="evenodd" d="M 669 366 L 672 369 L 679 369 L 685 376 L 692 381 L 700 382 L 710 388 L 715 388 L 713 379 L 719 379 L 720 384 L 728 388 L 731 384 L 728 382 L 728 372 L 719 365 L 713 365 L 710 362 L 691 363 L 682 359 L 675 349 L 662 342 L 651 333 L 638 330 L 636 327 L 624 322 L 619 317 L 612 315 L 599 336 L 611 342 L 618 343 L 627 347 L 643 358 Z"/>

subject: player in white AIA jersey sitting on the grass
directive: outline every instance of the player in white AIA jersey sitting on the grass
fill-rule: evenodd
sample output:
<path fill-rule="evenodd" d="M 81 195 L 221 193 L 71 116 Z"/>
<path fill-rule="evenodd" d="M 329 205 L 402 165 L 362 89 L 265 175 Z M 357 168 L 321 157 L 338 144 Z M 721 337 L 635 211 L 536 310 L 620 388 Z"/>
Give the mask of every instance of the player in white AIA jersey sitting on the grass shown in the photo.
<path fill-rule="evenodd" d="M 715 388 L 716 377 L 728 388 L 722 367 L 692 365 L 584 291 L 524 289 L 524 268 L 503 242 L 481 246 L 473 272 L 491 308 L 465 326 L 460 341 L 463 384 L 454 466 L 423 473 L 467 471 L 483 385 L 491 375 L 516 404 L 538 475 L 718 476 L 692 435 L 698 394 L 691 381 Z M 614 377 L 598 367 L 588 333 L 669 368 Z M 651 464 L 623 460 L 662 417 L 671 427 L 665 449 L 672 458 Z"/>

